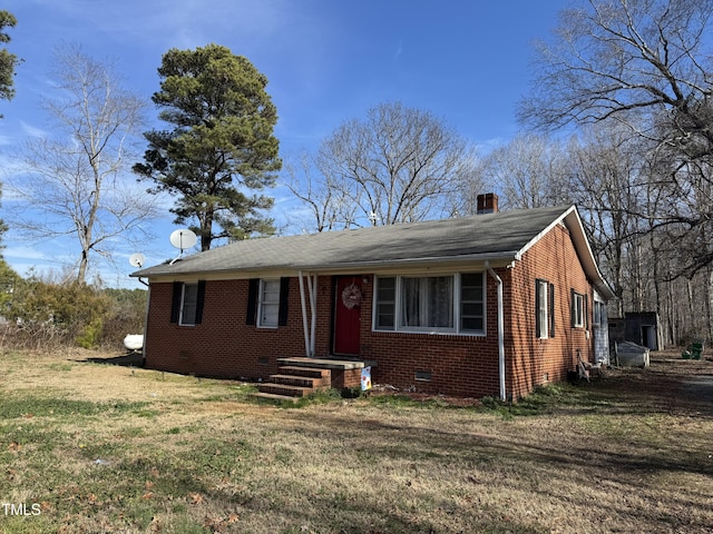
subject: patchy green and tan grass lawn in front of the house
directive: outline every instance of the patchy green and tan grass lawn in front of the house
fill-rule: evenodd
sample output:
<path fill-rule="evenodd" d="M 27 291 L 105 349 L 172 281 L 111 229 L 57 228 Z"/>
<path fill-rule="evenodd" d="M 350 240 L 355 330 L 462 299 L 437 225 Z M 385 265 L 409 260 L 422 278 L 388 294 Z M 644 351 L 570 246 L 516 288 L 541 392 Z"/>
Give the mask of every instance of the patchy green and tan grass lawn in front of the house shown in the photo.
<path fill-rule="evenodd" d="M 3 534 L 713 531 L 712 360 L 284 407 L 102 356 L 0 353 Z"/>

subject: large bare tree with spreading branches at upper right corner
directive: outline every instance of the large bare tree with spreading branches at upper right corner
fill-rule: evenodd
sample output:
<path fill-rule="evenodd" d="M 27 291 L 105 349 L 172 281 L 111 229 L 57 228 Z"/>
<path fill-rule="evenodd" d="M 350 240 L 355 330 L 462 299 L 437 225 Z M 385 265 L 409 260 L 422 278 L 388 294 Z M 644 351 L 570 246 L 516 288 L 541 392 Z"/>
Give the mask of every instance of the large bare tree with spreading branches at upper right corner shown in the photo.
<path fill-rule="evenodd" d="M 701 237 L 713 220 L 713 69 L 705 49 L 713 0 L 583 4 L 563 11 L 553 42 L 539 43 L 519 118 L 545 129 L 617 120 L 648 140 L 656 187 L 672 201 L 636 215 L 694 250 L 680 270 L 694 273 L 713 261 Z"/>

